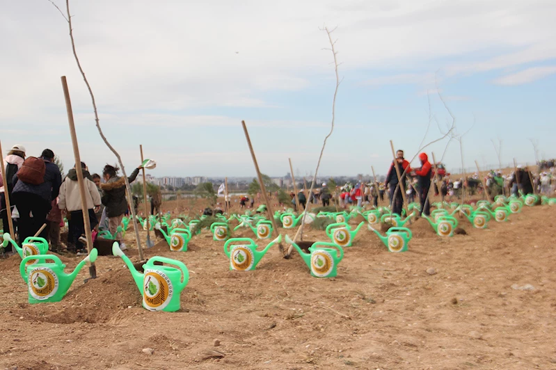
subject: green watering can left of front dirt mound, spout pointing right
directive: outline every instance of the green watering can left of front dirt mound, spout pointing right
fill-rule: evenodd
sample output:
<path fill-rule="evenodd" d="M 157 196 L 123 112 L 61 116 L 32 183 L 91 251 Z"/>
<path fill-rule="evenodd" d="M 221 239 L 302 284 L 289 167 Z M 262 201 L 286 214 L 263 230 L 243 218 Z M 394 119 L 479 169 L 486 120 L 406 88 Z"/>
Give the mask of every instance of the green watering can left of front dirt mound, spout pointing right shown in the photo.
<path fill-rule="evenodd" d="M 118 248 L 119 250 L 120 248 Z M 29 288 L 29 303 L 60 302 L 73 280 L 87 262 L 95 262 L 98 252 L 95 248 L 70 274 L 64 273 L 65 264 L 55 255 L 33 255 L 25 257 L 19 264 L 19 274 Z M 54 263 L 46 263 L 50 259 Z M 36 260 L 28 264 L 29 261 Z"/>

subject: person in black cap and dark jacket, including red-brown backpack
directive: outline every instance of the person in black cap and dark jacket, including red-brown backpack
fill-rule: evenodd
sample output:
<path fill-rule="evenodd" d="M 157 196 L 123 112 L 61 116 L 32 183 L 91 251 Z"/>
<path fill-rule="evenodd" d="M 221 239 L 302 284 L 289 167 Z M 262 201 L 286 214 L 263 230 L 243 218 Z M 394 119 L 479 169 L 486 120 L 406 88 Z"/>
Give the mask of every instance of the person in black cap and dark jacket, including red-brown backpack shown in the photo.
<path fill-rule="evenodd" d="M 28 157 L 13 177 L 13 184 L 14 204 L 19 211 L 17 234 L 23 242 L 46 223 L 51 202 L 58 197 L 62 175 L 54 163 L 54 152 L 45 149 L 39 158 Z M 46 239 L 47 230 L 39 236 Z"/>

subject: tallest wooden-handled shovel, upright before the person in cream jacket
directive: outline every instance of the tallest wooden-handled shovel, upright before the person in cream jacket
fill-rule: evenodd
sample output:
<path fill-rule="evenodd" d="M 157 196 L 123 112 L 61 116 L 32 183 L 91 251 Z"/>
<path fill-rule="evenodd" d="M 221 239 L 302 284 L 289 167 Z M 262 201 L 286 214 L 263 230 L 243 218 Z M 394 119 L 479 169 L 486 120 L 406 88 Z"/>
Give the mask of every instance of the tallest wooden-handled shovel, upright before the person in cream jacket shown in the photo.
<path fill-rule="evenodd" d="M 67 122 L 70 124 L 70 134 L 72 136 L 73 155 L 75 159 L 75 172 L 77 173 L 77 184 L 81 195 L 81 211 L 83 212 L 83 222 L 85 225 L 85 236 L 87 239 L 87 251 L 93 250 L 93 237 L 90 232 L 89 209 L 87 207 L 87 194 L 85 192 L 85 182 L 83 181 L 83 170 L 81 170 L 81 157 L 79 156 L 79 145 L 77 145 L 77 134 L 75 134 L 75 124 L 73 121 L 72 101 L 70 90 L 67 89 L 65 76 L 61 77 L 62 88 L 64 90 L 65 108 L 67 111 Z M 142 258 L 141 258 L 142 259 Z M 90 262 L 89 273 L 91 278 L 97 277 L 97 268 L 94 262 Z"/>

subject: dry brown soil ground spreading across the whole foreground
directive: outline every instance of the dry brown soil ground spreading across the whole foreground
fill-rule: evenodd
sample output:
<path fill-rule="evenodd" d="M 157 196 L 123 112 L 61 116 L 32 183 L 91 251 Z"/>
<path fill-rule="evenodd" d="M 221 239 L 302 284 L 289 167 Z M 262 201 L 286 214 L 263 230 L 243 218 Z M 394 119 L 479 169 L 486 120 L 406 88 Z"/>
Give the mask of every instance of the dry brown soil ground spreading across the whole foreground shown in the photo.
<path fill-rule="evenodd" d="M 160 241 L 146 257 L 190 271 L 179 312 L 143 309 L 118 257 L 99 257 L 85 284 L 84 268 L 61 302 L 29 305 L 13 256 L 0 261 L 0 368 L 556 369 L 555 210 L 525 208 L 486 230 L 461 220 L 468 235 L 445 239 L 421 219 L 397 254 L 361 230 L 333 279 L 278 248 L 256 271 L 229 271 L 206 231 L 187 252 Z M 62 258 L 67 270 L 80 259 Z M 512 288 L 525 284 L 534 290 Z"/>

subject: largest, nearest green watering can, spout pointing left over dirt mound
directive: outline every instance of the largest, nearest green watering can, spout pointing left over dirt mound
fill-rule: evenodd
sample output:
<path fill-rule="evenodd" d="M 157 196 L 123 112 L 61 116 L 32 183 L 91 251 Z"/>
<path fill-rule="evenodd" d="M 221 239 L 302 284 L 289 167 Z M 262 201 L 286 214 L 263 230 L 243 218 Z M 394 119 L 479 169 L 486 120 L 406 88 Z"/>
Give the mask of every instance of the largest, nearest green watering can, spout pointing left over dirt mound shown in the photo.
<path fill-rule="evenodd" d="M 143 307 L 149 311 L 175 312 L 180 309 L 180 294 L 189 282 L 189 271 L 183 262 L 166 257 L 154 256 L 143 264 L 143 273 L 133 266 L 131 260 L 120 250 L 118 243 L 113 243 L 112 254 L 124 260 L 141 296 Z M 175 267 L 160 266 L 154 262 L 163 262 Z"/>

